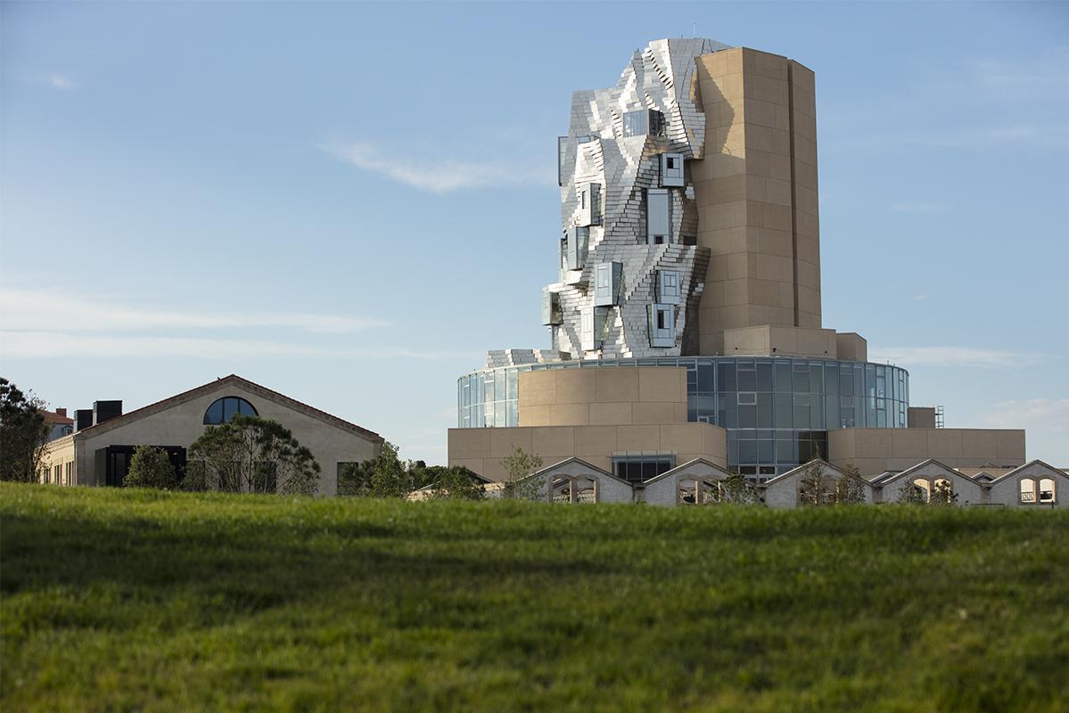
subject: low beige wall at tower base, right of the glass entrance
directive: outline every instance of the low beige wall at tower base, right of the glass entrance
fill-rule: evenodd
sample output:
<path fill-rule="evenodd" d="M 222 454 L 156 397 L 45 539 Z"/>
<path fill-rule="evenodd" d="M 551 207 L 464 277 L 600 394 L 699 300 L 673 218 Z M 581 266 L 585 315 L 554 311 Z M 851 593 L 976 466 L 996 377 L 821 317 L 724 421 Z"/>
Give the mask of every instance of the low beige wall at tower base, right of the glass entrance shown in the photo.
<path fill-rule="evenodd" d="M 853 464 L 862 475 L 905 470 L 934 459 L 952 468 L 1024 464 L 1024 431 L 1017 429 L 834 429 L 827 432 L 833 465 Z"/>

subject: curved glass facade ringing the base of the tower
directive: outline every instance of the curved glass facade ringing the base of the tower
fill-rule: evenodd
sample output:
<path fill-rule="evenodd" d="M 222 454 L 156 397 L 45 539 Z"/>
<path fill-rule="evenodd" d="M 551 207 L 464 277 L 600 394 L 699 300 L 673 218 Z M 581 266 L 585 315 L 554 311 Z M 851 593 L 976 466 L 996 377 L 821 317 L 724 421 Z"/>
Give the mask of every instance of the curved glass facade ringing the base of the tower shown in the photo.
<path fill-rule="evenodd" d="M 802 357 L 662 357 L 499 367 L 458 379 L 458 425 L 518 425 L 521 371 L 684 367 L 687 420 L 728 432 L 728 465 L 768 478 L 827 454 L 827 430 L 905 428 L 910 374 L 899 367 Z"/>

